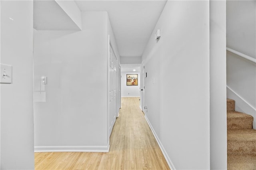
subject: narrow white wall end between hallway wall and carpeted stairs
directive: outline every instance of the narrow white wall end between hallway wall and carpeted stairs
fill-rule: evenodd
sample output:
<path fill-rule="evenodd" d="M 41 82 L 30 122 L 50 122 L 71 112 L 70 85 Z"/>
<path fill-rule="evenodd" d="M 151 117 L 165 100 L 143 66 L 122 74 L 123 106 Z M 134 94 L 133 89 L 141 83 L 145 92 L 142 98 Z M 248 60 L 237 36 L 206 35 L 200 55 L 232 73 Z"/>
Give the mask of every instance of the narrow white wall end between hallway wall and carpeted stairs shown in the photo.
<path fill-rule="evenodd" d="M 227 169 L 226 1 L 210 0 L 210 169 Z"/>

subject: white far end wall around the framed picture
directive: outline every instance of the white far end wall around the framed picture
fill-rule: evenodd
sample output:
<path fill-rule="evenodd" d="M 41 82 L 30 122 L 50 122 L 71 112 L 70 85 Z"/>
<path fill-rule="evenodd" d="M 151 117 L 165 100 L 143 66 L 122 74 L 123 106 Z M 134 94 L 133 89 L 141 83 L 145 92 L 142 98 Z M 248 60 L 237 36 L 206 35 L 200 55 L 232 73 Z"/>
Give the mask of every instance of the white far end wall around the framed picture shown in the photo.
<path fill-rule="evenodd" d="M 138 74 L 138 85 L 126 85 L 126 74 Z M 140 72 L 121 72 L 122 97 L 140 97 Z"/>

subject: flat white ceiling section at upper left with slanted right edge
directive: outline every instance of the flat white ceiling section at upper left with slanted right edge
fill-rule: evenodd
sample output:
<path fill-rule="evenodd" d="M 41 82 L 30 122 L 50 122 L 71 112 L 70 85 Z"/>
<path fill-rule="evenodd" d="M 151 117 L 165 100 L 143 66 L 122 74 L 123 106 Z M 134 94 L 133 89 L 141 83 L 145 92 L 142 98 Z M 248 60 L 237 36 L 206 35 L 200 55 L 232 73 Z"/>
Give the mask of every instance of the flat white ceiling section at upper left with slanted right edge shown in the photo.
<path fill-rule="evenodd" d="M 55 0 L 34 0 L 33 13 L 36 30 L 80 30 Z"/>

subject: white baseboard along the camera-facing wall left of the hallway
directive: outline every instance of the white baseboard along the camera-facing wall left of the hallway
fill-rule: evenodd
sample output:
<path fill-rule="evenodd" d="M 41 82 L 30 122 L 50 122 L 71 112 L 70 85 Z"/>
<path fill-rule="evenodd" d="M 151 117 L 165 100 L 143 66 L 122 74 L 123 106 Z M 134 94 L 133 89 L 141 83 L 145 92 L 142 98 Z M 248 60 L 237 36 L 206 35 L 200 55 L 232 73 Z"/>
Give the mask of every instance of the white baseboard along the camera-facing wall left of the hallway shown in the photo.
<path fill-rule="evenodd" d="M 35 146 L 34 152 L 109 152 L 108 146 Z"/>

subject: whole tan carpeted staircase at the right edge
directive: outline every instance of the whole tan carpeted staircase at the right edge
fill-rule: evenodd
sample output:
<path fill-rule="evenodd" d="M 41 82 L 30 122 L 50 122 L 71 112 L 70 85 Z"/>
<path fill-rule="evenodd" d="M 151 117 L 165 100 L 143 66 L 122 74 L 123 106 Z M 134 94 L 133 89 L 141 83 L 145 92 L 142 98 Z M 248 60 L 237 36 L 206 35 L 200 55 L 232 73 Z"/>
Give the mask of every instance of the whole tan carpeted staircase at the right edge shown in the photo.
<path fill-rule="evenodd" d="M 256 130 L 253 117 L 235 111 L 235 101 L 227 99 L 228 170 L 256 170 Z"/>

